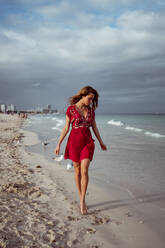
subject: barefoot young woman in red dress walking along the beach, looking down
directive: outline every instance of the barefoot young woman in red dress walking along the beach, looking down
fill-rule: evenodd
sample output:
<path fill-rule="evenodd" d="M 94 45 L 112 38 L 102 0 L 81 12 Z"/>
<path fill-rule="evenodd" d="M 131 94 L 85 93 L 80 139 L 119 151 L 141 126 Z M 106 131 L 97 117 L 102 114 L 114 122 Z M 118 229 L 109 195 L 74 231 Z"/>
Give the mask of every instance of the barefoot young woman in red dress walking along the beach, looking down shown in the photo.
<path fill-rule="evenodd" d="M 101 149 L 107 150 L 95 121 L 98 97 L 97 91 L 90 86 L 82 88 L 76 95 L 70 97 L 70 106 L 66 111 L 66 123 L 55 149 L 55 153 L 58 155 L 60 145 L 69 131 L 70 124 L 72 124 L 64 158 L 73 161 L 75 182 L 80 196 L 80 211 L 82 214 L 87 213 L 85 195 L 88 186 L 88 168 L 95 149 L 90 127 L 93 129 Z"/>

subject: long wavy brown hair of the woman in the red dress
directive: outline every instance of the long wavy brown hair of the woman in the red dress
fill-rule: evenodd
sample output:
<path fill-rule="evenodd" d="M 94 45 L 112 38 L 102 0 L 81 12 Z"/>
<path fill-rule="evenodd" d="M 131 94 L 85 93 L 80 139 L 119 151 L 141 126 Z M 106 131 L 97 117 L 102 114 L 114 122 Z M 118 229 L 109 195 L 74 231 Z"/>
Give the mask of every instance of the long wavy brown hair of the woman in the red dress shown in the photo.
<path fill-rule="evenodd" d="M 98 94 L 97 90 L 93 89 L 91 86 L 85 86 L 81 90 L 79 90 L 79 92 L 76 95 L 71 96 L 69 98 L 69 103 L 71 105 L 76 104 L 83 96 L 87 96 L 87 95 L 89 95 L 91 93 L 94 94 L 94 98 L 93 98 L 93 101 L 92 101 L 92 107 L 94 109 L 96 109 L 97 106 L 98 106 L 99 94 Z"/>

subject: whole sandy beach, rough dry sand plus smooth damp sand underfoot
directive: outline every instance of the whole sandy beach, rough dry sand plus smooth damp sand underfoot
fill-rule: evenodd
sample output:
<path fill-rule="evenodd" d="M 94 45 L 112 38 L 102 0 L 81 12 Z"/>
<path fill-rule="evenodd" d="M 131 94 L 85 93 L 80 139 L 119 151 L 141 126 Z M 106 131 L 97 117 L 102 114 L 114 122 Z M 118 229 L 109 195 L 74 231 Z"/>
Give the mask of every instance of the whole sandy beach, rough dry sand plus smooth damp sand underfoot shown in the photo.
<path fill-rule="evenodd" d="M 164 247 L 133 200 L 113 188 L 90 183 L 89 214 L 81 215 L 73 170 L 29 152 L 40 141 L 25 122 L 0 114 L 0 248 Z"/>

